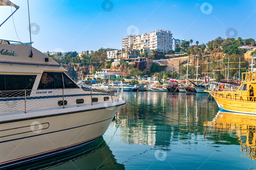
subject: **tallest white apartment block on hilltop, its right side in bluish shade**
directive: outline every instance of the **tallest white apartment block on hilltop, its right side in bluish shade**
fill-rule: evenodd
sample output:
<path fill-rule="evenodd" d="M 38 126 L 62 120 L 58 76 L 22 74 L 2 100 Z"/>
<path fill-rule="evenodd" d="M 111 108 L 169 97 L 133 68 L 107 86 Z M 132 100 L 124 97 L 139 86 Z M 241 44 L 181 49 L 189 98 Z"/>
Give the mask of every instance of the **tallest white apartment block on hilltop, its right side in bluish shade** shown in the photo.
<path fill-rule="evenodd" d="M 149 34 L 149 50 L 157 50 L 158 52 L 166 52 L 167 49 L 172 49 L 172 37 L 171 31 L 153 31 Z"/>

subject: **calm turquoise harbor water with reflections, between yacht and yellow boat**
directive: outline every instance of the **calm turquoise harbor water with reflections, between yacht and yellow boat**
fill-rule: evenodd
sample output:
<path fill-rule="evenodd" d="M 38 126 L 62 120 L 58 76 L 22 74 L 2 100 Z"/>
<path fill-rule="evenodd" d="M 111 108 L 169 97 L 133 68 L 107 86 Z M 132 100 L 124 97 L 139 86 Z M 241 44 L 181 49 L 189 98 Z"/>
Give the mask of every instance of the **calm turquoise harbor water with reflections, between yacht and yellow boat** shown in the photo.
<path fill-rule="evenodd" d="M 124 92 L 126 101 L 182 122 L 127 103 L 98 141 L 19 169 L 256 168 L 256 116 L 218 112 L 207 96 Z"/>

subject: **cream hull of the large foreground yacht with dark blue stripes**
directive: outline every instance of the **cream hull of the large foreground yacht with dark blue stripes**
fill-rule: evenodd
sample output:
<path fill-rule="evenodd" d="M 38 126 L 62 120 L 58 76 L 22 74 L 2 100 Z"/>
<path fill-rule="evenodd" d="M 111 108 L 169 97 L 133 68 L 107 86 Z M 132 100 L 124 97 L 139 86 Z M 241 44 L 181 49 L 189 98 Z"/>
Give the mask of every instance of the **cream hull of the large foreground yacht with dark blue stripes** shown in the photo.
<path fill-rule="evenodd" d="M 1 122 L 0 168 L 56 156 L 96 141 L 124 104 Z"/>

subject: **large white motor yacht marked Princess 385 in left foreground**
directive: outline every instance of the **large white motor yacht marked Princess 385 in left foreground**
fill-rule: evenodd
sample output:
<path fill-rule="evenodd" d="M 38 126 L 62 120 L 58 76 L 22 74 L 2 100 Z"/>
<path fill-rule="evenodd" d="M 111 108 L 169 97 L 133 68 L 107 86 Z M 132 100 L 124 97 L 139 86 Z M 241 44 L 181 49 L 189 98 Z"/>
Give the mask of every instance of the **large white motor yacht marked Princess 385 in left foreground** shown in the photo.
<path fill-rule="evenodd" d="M 10 43 L 0 40 L 0 168 L 63 154 L 99 139 L 125 104 L 121 94 L 84 91 L 53 59 L 21 42 Z"/>

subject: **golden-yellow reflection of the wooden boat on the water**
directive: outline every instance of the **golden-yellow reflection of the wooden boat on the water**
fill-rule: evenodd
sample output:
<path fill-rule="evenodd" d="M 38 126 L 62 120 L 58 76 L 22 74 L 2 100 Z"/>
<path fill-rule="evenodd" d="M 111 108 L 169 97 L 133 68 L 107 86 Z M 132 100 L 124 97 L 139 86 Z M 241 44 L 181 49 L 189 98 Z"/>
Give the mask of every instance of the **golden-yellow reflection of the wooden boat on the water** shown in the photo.
<path fill-rule="evenodd" d="M 229 136 L 238 140 L 241 145 L 241 156 L 256 159 L 256 116 L 219 112 L 206 126 L 226 128 Z"/>

